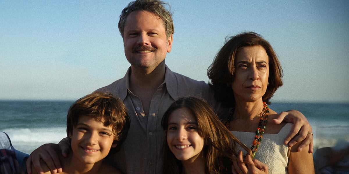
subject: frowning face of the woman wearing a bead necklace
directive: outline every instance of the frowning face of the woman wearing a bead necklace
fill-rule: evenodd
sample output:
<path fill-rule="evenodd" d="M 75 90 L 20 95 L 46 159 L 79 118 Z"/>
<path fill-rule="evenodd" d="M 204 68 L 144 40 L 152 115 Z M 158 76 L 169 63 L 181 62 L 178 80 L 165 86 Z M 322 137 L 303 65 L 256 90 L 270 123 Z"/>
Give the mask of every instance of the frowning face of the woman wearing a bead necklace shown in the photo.
<path fill-rule="evenodd" d="M 236 101 L 253 102 L 266 92 L 269 77 L 269 58 L 265 49 L 248 46 L 235 57 L 235 77 L 231 82 Z"/>

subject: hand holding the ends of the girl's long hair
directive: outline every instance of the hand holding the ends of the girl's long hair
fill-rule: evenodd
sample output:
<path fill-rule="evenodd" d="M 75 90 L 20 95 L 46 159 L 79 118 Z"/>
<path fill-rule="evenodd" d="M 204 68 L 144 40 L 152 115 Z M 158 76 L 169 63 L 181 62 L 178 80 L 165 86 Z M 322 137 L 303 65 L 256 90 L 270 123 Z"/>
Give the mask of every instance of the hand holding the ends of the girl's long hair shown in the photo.
<path fill-rule="evenodd" d="M 246 164 L 243 163 L 242 151 L 239 152 L 239 156 L 236 158 L 238 161 L 233 160 L 231 165 L 231 172 L 233 174 L 267 174 L 268 166 L 261 161 L 252 160 L 250 155 L 246 155 Z"/>

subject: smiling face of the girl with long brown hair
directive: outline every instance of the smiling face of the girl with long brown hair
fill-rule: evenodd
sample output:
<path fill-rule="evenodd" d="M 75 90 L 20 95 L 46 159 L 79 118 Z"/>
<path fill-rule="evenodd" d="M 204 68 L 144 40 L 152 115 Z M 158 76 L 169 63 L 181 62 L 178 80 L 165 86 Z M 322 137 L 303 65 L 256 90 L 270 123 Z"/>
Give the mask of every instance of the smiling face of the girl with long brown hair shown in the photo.
<path fill-rule="evenodd" d="M 178 160 L 194 160 L 203 149 L 204 140 L 198 133 L 198 122 L 187 108 L 174 110 L 168 120 L 167 143 Z"/>

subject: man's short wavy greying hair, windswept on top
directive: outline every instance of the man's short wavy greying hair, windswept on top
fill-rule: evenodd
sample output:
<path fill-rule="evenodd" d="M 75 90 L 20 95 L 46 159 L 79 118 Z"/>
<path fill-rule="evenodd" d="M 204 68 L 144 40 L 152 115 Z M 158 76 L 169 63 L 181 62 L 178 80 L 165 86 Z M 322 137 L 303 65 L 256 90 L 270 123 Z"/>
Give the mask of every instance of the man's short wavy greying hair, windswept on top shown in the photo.
<path fill-rule="evenodd" d="M 171 8 L 168 3 L 159 0 L 136 0 L 128 3 L 121 11 L 120 20 L 119 20 L 119 31 L 124 38 L 124 28 L 126 25 L 127 16 L 133 11 L 145 10 L 153 13 L 156 16 L 159 16 L 164 22 L 164 27 L 166 31 L 166 37 L 169 37 L 174 33 L 174 26 L 172 21 L 172 13 L 170 10 L 167 10 L 164 6 L 168 5 L 169 9 Z"/>

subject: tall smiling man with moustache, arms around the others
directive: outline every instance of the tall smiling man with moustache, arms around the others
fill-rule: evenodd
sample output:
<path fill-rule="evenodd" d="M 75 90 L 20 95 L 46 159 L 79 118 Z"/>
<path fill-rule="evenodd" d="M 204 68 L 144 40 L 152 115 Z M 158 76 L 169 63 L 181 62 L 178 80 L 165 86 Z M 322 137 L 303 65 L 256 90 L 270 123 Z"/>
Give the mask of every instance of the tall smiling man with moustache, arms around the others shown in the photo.
<path fill-rule="evenodd" d="M 200 96 L 211 102 L 216 111 L 226 109 L 216 102 L 205 82 L 174 73 L 165 65 L 166 54 L 172 48 L 174 27 L 171 13 L 164 5 L 164 2 L 158 0 L 136 0 L 122 10 L 118 26 L 124 40 L 125 56 L 131 67 L 124 78 L 98 89 L 119 96 L 131 117 L 124 145 L 108 159 L 124 173 L 161 173 L 164 141 L 161 119 L 176 98 Z M 298 121 L 287 141 L 302 127 L 300 135 L 295 139 L 299 142 L 304 139 L 302 136 L 306 137 L 307 132 L 311 132 L 311 127 L 302 114 L 292 112 L 293 115 L 297 113 L 298 117 L 288 116 L 289 119 L 291 122 L 295 122 L 292 119 Z M 280 120 L 285 115 L 280 116 Z M 303 147 L 311 141 L 311 138 L 306 139 Z M 47 144 L 32 152 L 27 166 L 32 161 L 37 171 L 40 171 L 38 161 L 42 158 L 53 173 L 60 172 L 53 148 L 57 148 L 57 145 Z M 65 150 L 62 153 L 65 154 Z M 27 169 L 30 173 L 30 168 Z"/>

